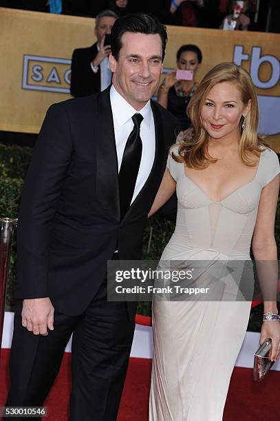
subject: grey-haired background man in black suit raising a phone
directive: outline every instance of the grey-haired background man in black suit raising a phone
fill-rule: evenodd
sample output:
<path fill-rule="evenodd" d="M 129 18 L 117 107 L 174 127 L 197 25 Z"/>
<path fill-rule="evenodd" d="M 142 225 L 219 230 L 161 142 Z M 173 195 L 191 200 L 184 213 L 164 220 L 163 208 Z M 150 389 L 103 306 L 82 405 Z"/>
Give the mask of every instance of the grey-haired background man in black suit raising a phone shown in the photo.
<path fill-rule="evenodd" d="M 97 42 L 91 47 L 77 48 L 72 55 L 70 92 L 73 96 L 87 96 L 104 91 L 111 85 L 109 54 L 111 45 L 105 45 L 105 35 L 118 19 L 113 10 L 104 10 L 96 16 Z"/>

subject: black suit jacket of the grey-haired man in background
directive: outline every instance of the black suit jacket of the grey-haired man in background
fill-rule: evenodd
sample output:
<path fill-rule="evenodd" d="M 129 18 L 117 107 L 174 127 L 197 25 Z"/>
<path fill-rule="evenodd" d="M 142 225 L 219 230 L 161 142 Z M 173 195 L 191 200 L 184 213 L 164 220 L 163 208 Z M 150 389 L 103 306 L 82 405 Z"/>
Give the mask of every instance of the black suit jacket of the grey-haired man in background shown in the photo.
<path fill-rule="evenodd" d="M 97 43 L 91 47 L 74 50 L 70 85 L 73 96 L 87 96 L 100 92 L 100 66 L 98 66 L 98 72 L 94 73 L 90 65 L 97 53 Z"/>

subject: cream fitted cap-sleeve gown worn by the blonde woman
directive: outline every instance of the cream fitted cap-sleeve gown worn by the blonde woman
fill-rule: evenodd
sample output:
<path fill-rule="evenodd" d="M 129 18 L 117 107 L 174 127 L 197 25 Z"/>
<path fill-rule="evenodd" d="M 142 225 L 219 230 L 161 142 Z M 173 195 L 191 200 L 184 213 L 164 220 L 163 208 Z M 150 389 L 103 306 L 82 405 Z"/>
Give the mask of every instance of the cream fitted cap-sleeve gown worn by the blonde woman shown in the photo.
<path fill-rule="evenodd" d="M 176 153 L 176 150 L 174 151 Z M 162 260 L 250 261 L 263 186 L 279 172 L 266 149 L 251 182 L 213 202 L 169 155 L 177 182 L 177 222 Z M 250 301 L 154 301 L 149 421 L 222 421 Z"/>

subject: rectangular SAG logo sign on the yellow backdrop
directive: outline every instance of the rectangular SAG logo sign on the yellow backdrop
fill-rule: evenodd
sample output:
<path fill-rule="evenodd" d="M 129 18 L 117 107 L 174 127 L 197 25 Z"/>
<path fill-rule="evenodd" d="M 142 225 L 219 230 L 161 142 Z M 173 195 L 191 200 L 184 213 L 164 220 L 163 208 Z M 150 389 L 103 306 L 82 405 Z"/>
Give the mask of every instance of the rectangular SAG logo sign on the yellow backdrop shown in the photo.
<path fill-rule="evenodd" d="M 71 60 L 67 58 L 23 56 L 22 88 L 69 94 Z"/>

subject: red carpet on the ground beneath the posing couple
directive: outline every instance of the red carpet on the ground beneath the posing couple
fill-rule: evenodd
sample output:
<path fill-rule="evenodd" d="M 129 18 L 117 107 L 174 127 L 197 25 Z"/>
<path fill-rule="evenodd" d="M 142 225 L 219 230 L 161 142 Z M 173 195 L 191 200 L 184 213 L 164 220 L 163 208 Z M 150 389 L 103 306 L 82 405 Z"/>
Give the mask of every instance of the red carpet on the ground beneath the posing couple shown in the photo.
<path fill-rule="evenodd" d="M 0 407 L 8 391 L 8 354 L 2 349 L 0 362 Z M 67 421 L 67 402 L 70 390 L 69 362 L 65 354 L 61 371 L 47 398 L 49 421 Z M 118 421 L 147 421 L 151 360 L 131 358 Z M 235 368 L 230 383 L 224 421 L 279 421 L 280 373 L 271 371 L 262 382 L 252 380 L 252 370 Z M 211 387 L 211 385 L 209 385 Z M 202 396 L 203 399 L 203 396 Z M 183 421 L 183 420 L 176 420 Z M 204 420 L 193 420 L 204 421 Z"/>

